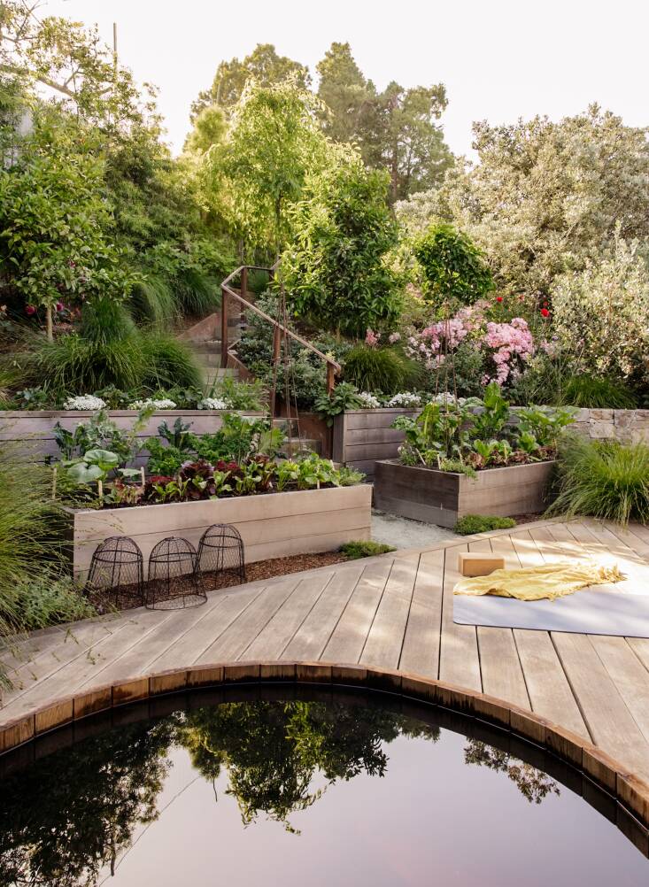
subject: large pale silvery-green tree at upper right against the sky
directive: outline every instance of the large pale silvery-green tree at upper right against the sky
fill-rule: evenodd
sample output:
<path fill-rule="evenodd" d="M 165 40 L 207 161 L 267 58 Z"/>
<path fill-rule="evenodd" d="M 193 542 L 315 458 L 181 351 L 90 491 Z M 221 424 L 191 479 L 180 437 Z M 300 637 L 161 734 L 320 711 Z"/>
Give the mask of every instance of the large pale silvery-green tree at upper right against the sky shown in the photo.
<path fill-rule="evenodd" d="M 411 233 L 444 219 L 489 256 L 498 292 L 537 312 L 556 279 L 598 266 L 622 239 L 649 237 L 649 145 L 644 127 L 590 106 L 559 121 L 473 126 L 477 162 L 397 207 Z M 577 337 L 575 336 L 575 341 Z"/>

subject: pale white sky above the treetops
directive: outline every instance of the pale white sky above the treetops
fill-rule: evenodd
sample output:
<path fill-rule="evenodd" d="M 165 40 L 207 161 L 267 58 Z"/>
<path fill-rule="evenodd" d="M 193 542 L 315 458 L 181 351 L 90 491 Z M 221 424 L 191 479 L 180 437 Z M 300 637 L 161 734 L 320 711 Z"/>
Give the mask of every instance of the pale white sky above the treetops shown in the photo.
<path fill-rule="evenodd" d="M 445 83 L 442 125 L 455 153 L 469 152 L 474 120 L 559 119 L 593 101 L 649 123 L 646 0 L 49 0 L 39 14 L 96 22 L 110 42 L 117 22 L 121 63 L 159 87 L 176 152 L 219 61 L 256 43 L 315 75 L 332 41 L 348 41 L 379 88 Z"/>

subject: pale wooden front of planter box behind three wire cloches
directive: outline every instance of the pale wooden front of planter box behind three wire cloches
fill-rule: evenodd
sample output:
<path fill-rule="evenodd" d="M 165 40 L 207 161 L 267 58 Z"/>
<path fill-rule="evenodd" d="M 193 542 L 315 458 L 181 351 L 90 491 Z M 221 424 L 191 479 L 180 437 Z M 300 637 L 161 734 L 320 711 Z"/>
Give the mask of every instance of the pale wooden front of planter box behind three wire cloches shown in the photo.
<path fill-rule="evenodd" d="M 369 539 L 371 486 L 268 493 L 241 498 L 175 502 L 132 508 L 66 509 L 73 542 L 74 577 L 88 576 L 92 554 L 109 536 L 129 536 L 148 561 L 160 539 L 181 536 L 198 547 L 213 523 L 231 523 L 243 538 L 246 562 L 290 554 L 334 551 Z M 145 566 L 146 577 L 146 566 Z"/>

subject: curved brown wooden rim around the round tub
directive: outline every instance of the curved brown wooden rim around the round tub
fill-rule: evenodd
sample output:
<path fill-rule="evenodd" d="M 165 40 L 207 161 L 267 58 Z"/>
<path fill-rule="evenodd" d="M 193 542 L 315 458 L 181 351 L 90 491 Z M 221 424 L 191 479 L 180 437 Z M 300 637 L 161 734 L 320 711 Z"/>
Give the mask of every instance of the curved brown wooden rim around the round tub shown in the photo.
<path fill-rule="evenodd" d="M 58 727 L 129 703 L 205 687 L 261 682 L 367 687 L 479 718 L 533 742 L 567 764 L 578 767 L 613 795 L 643 825 L 649 825 L 649 785 L 582 736 L 494 696 L 417 674 L 359 665 L 322 662 L 214 663 L 107 684 L 88 693 L 61 697 L 27 716 L 0 726 L 0 754 Z"/>

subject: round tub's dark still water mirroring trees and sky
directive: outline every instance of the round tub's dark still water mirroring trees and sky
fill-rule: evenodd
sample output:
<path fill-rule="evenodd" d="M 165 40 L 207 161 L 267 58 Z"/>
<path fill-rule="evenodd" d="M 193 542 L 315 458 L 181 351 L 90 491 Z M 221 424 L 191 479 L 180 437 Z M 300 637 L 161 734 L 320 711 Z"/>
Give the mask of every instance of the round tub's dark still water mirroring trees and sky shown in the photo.
<path fill-rule="evenodd" d="M 0 883 L 631 887 L 646 833 L 583 773 L 450 710 L 230 687 L 0 759 Z"/>

